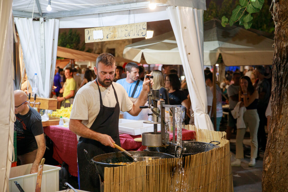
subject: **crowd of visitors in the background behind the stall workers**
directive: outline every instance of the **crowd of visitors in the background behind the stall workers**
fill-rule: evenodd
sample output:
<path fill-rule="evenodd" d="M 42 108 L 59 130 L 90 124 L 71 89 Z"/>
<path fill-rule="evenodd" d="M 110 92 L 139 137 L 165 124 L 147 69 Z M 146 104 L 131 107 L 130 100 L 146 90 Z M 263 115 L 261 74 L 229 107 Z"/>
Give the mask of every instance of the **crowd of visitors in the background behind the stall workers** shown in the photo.
<path fill-rule="evenodd" d="M 185 124 L 194 124 L 187 82 L 186 79 L 180 81 L 177 73 L 176 69 L 165 65 L 162 67 L 162 71 L 151 71 L 151 75 L 154 76 L 152 88 L 160 89 L 160 100 L 165 100 L 165 104 L 177 105 L 183 108 Z M 113 81 L 124 87 L 128 97 L 134 103 L 142 91 L 144 74 L 145 69 L 143 66 L 130 62 L 126 64 L 125 68 L 122 66 L 116 67 Z M 225 79 L 220 83 L 216 83 L 216 117 L 214 117 L 214 109 L 212 107 L 213 72 L 209 68 L 205 69 L 204 77 L 208 114 L 213 124 L 214 118 L 216 118 L 216 131 L 220 130 L 223 117 L 222 104 L 225 102 L 229 104 L 228 126 L 226 126 L 228 140 L 230 140 L 232 132 L 237 132 L 236 161 L 232 162 L 232 166 L 240 166 L 241 159 L 244 157 L 242 142 L 247 128 L 250 130 L 251 137 L 251 162 L 249 166 L 254 166 L 255 159 L 259 157 L 259 151 L 263 152 L 266 148 L 265 126 L 267 125 L 267 118 L 265 111 L 269 103 L 272 87 L 270 66 L 256 66 L 255 68 L 251 66 L 249 70 L 244 70 L 243 72 L 238 69 L 234 72 L 226 71 Z M 59 107 L 70 106 L 76 92 L 94 79 L 96 79 L 95 73 L 89 68 L 86 70 L 66 68 L 65 71 L 58 69 L 58 73 L 54 77 L 54 92 L 56 93 Z M 239 118 L 235 117 L 235 110 L 239 110 L 242 107 L 245 107 L 245 111 L 241 115 L 241 127 L 241 123 L 238 123 Z M 238 112 L 237 115 L 240 114 Z"/>

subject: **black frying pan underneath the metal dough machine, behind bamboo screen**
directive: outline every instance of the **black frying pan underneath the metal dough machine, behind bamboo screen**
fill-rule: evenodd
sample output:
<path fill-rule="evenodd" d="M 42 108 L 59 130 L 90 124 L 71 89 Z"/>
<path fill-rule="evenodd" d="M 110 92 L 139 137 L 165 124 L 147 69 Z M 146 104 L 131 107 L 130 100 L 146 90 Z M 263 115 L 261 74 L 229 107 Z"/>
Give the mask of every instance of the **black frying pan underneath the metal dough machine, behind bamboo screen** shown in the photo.
<path fill-rule="evenodd" d="M 211 142 L 217 142 L 217 144 L 212 144 Z M 197 153 L 202 153 L 209 151 L 211 149 L 219 147 L 219 141 L 211 141 L 210 143 L 205 142 L 198 142 L 198 141 L 182 141 L 182 157 L 195 155 Z M 160 153 L 167 153 L 167 154 L 174 154 L 175 147 L 174 146 L 167 146 L 167 147 L 147 147 L 148 151 L 160 152 Z M 180 156 L 181 157 L 181 156 Z"/>

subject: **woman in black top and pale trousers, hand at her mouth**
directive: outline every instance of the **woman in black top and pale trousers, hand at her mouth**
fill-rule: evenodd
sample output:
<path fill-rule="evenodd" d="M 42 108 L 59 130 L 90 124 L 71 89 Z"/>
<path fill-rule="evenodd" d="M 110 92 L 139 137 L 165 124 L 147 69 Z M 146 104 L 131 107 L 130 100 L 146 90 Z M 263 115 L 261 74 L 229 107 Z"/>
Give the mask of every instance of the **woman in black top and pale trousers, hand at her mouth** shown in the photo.
<path fill-rule="evenodd" d="M 243 120 L 246 128 L 237 129 L 236 135 L 236 160 L 231 163 L 231 166 L 241 166 L 241 159 L 244 158 L 243 153 L 243 139 L 247 127 L 250 130 L 251 140 L 251 159 L 250 167 L 255 166 L 255 159 L 257 157 L 258 142 L 257 132 L 259 126 L 259 116 L 257 113 L 258 91 L 254 89 L 251 79 L 248 76 L 240 78 L 239 101 L 242 103 L 240 107 L 245 106 L 246 112 L 243 115 Z"/>

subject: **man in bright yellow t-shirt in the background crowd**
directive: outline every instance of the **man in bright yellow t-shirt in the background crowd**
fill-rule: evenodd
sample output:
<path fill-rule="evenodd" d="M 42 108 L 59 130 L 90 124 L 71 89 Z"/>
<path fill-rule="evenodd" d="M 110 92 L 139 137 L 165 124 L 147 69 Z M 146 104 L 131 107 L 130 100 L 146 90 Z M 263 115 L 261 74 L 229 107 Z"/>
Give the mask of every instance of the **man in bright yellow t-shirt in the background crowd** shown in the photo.
<path fill-rule="evenodd" d="M 60 93 L 63 93 L 63 97 L 57 97 L 57 101 L 61 102 L 61 107 L 70 107 L 71 98 L 75 95 L 76 82 L 73 78 L 73 70 L 70 67 L 65 69 L 64 75 L 66 82 L 60 90 Z"/>

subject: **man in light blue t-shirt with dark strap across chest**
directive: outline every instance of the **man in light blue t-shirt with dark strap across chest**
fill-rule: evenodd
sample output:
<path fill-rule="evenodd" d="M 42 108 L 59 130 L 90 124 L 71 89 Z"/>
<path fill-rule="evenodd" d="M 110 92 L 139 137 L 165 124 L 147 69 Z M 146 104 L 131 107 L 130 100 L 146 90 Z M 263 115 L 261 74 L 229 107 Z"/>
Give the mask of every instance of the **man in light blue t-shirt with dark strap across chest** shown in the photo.
<path fill-rule="evenodd" d="M 140 95 L 143 87 L 143 81 L 138 79 L 139 77 L 139 66 L 130 62 L 125 66 L 127 77 L 126 79 L 119 79 L 116 83 L 119 83 L 124 87 L 130 100 L 134 103 Z"/>

